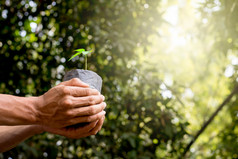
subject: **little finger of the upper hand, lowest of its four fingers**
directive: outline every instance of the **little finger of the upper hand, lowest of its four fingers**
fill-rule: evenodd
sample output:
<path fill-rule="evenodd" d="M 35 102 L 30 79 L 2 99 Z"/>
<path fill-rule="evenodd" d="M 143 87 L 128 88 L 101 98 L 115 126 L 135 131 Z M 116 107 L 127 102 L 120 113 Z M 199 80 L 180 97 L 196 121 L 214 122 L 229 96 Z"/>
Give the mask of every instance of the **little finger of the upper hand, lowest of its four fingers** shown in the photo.
<path fill-rule="evenodd" d="M 105 111 L 101 111 L 100 113 L 95 114 L 95 115 L 77 117 L 77 118 L 70 120 L 70 123 L 71 123 L 70 125 L 74 125 L 77 123 L 90 123 L 90 122 L 101 119 L 105 114 L 106 114 Z"/>

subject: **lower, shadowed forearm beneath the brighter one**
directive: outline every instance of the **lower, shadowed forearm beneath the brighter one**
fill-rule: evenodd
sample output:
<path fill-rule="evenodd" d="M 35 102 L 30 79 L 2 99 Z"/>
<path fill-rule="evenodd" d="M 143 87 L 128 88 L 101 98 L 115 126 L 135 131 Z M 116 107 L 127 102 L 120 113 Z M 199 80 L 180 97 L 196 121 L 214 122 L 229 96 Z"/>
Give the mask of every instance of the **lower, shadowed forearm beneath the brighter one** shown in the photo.
<path fill-rule="evenodd" d="M 27 138 L 42 133 L 40 126 L 0 126 L 0 152 L 12 149 Z"/>

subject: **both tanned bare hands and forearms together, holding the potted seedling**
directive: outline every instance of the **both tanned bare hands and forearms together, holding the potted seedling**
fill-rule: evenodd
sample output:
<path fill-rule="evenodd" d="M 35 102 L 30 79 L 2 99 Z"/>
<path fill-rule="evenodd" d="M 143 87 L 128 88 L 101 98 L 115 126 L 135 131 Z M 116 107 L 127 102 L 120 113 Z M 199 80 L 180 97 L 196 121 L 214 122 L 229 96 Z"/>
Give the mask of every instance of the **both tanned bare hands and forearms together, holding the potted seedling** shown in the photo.
<path fill-rule="evenodd" d="M 105 119 L 104 99 L 77 78 L 39 97 L 0 94 L 0 152 L 45 131 L 75 139 L 97 134 Z M 66 128 L 84 122 L 89 124 Z"/>

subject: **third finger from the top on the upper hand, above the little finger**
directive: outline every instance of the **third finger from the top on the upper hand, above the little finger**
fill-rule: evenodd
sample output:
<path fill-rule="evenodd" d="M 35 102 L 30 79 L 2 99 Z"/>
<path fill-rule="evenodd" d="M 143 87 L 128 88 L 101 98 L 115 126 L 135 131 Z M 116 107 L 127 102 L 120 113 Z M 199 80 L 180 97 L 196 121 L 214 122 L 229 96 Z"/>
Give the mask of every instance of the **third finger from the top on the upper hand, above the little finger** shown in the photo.
<path fill-rule="evenodd" d="M 71 109 L 70 114 L 72 114 L 73 117 L 90 116 L 90 115 L 98 114 L 99 112 L 103 111 L 105 108 L 106 108 L 106 103 L 102 102 L 100 104 L 96 104 L 92 106 Z"/>

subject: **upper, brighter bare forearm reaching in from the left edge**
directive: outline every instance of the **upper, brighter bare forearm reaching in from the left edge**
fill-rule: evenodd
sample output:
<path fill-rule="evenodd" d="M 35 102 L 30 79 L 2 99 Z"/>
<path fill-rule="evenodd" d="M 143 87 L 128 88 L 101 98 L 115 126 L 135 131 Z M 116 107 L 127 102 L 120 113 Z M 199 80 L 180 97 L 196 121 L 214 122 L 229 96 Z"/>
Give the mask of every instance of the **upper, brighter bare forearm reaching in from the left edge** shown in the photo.
<path fill-rule="evenodd" d="M 0 94 L 0 126 L 35 124 L 37 97 Z"/>

